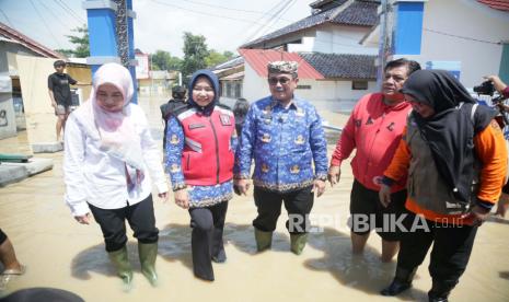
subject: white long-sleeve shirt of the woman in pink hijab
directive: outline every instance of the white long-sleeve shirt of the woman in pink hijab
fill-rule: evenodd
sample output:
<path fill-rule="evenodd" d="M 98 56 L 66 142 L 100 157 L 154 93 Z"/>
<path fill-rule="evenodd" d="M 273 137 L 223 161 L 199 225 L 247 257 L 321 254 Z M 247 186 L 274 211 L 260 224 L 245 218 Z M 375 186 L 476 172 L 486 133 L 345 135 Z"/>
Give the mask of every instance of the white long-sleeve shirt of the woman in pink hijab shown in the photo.
<path fill-rule="evenodd" d="M 135 205 L 150 195 L 152 181 L 159 193 L 169 190 L 161 153 L 150 135 L 143 111 L 135 104 L 129 104 L 125 111 L 126 118 L 131 120 L 140 136 L 144 179 L 139 189 L 128 193 L 125 163 L 101 151 L 101 141 L 86 136 L 83 126 L 71 114 L 66 123 L 63 179 L 66 202 L 73 216 L 90 212 L 86 202 L 101 209 Z"/>

